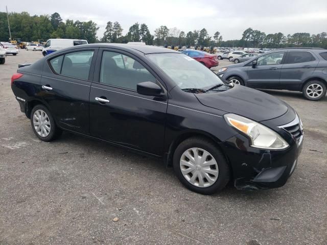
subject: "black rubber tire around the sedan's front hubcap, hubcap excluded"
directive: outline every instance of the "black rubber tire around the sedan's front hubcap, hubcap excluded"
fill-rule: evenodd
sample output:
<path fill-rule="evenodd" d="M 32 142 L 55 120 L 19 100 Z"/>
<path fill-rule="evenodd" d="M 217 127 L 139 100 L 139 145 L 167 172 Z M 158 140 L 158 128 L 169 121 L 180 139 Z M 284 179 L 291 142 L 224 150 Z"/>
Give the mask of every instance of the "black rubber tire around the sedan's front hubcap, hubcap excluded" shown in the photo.
<path fill-rule="evenodd" d="M 182 175 L 179 167 L 180 157 L 186 150 L 190 148 L 201 148 L 209 152 L 215 158 L 218 164 L 219 174 L 217 181 L 213 185 L 209 187 L 197 187 L 192 185 Z M 177 178 L 186 188 L 201 194 L 213 194 L 222 190 L 228 183 L 230 177 L 229 166 L 223 154 L 212 142 L 202 138 L 190 138 L 181 142 L 177 146 L 176 151 L 174 153 L 173 167 Z"/>

